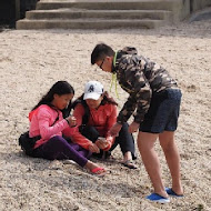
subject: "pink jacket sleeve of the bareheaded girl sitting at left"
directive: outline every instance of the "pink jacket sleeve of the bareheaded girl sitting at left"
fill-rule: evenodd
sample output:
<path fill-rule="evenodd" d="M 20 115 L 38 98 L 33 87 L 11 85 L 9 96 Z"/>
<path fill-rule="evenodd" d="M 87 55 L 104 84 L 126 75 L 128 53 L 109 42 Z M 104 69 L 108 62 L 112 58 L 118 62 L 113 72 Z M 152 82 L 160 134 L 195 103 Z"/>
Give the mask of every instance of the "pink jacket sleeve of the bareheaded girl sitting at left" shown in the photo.
<path fill-rule="evenodd" d="M 39 130 L 42 139 L 50 139 L 53 135 L 62 135 L 61 131 L 69 127 L 68 122 L 62 119 L 61 113 L 59 118 L 60 120 L 51 125 L 52 121 L 57 119 L 57 115 L 58 114 L 52 117 L 51 111 L 44 108 L 38 111 Z"/>

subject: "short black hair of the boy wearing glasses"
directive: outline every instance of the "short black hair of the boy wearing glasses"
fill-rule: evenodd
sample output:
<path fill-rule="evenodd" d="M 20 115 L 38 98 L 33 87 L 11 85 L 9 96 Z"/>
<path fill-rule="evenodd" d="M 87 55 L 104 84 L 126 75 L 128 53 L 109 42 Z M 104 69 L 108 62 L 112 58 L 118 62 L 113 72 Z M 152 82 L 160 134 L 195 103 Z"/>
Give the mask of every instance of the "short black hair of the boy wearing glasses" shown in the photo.
<path fill-rule="evenodd" d="M 111 47 L 99 43 L 94 47 L 92 53 L 91 53 L 91 64 L 94 64 L 97 61 L 104 59 L 107 56 L 113 57 L 114 51 Z"/>

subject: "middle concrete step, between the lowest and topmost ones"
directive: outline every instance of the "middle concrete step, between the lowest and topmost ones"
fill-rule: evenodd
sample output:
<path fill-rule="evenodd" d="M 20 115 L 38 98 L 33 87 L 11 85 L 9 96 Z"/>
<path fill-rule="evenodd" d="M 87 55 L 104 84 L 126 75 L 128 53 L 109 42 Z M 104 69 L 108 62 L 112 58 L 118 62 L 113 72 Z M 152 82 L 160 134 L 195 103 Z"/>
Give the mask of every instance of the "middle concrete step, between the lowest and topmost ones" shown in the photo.
<path fill-rule="evenodd" d="M 110 19 L 158 19 L 170 20 L 172 12 L 167 10 L 86 10 L 58 9 L 28 11 L 29 20 L 40 19 L 78 19 L 78 18 L 110 18 Z"/>

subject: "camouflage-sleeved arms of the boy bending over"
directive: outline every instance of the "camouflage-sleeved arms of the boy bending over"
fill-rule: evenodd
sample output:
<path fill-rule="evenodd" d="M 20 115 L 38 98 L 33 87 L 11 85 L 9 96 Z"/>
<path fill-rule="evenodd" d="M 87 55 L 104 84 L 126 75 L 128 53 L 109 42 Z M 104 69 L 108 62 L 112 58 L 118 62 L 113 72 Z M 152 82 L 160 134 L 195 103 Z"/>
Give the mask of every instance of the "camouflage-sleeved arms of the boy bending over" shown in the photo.
<path fill-rule="evenodd" d="M 141 61 L 140 64 L 137 57 L 128 57 L 119 63 L 119 69 L 124 74 L 123 77 L 130 88 L 125 89 L 120 84 L 130 96 L 118 115 L 119 123 L 128 121 L 135 109 L 134 121 L 141 123 L 149 110 L 152 91 L 143 74 L 143 67 L 144 61 Z"/>

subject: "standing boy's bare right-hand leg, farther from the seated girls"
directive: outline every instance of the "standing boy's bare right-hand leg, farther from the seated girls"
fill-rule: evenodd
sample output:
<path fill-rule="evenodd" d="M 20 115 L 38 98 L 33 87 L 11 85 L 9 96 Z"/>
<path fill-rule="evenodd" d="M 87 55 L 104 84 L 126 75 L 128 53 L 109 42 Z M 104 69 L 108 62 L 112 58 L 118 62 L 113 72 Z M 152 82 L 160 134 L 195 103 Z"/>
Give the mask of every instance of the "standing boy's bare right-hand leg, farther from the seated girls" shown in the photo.
<path fill-rule="evenodd" d="M 174 141 L 174 132 L 164 131 L 159 134 L 159 140 L 171 172 L 172 189 L 177 194 L 183 194 L 180 178 L 180 154 Z"/>

